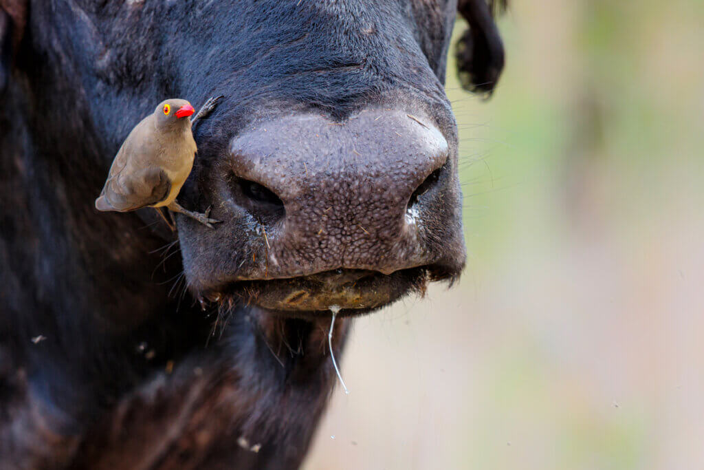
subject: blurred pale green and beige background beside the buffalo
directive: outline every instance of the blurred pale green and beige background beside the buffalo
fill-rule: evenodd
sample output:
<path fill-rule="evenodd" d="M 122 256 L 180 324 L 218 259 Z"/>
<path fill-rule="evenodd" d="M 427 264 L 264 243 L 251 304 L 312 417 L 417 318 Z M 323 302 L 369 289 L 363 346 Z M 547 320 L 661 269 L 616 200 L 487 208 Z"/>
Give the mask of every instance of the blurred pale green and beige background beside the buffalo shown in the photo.
<path fill-rule="evenodd" d="M 463 278 L 356 321 L 306 468 L 704 468 L 704 2 L 499 26 L 491 100 L 448 65 Z"/>

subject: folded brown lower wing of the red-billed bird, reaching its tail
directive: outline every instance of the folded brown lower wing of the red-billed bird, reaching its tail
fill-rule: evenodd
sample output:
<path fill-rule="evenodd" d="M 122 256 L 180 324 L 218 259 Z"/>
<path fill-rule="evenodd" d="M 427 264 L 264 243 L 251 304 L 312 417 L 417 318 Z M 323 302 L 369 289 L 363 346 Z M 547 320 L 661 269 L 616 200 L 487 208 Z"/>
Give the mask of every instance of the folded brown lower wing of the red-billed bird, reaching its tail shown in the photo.
<path fill-rule="evenodd" d="M 162 202 L 171 191 L 171 180 L 158 166 L 122 171 L 108 180 L 95 206 L 99 211 L 134 211 Z"/>

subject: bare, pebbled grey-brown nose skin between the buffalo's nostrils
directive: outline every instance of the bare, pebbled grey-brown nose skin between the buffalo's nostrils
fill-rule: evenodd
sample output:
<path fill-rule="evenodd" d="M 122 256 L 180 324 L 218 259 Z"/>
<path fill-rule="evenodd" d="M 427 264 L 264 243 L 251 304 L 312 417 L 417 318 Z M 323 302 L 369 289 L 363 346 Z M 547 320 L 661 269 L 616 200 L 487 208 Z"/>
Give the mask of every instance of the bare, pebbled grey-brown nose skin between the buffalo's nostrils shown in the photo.
<path fill-rule="evenodd" d="M 238 278 L 334 268 L 391 273 L 433 261 L 419 240 L 424 207 L 408 206 L 448 159 L 448 143 L 429 119 L 389 110 L 363 111 L 344 123 L 279 118 L 241 133 L 230 158 L 232 177 L 266 187 L 284 209 L 261 221 L 266 273 L 250 266 Z"/>

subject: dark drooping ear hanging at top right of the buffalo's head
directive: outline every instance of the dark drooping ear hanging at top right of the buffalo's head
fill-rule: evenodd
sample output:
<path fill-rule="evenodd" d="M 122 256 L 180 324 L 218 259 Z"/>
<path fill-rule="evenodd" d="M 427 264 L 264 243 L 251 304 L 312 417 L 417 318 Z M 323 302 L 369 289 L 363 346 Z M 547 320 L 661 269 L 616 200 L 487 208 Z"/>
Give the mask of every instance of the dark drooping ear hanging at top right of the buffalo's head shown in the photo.
<path fill-rule="evenodd" d="M 487 3 L 488 2 L 488 3 Z M 460 84 L 474 93 L 491 96 L 503 70 L 503 42 L 494 13 L 505 0 L 459 0 L 457 9 L 470 27 L 457 42 Z"/>

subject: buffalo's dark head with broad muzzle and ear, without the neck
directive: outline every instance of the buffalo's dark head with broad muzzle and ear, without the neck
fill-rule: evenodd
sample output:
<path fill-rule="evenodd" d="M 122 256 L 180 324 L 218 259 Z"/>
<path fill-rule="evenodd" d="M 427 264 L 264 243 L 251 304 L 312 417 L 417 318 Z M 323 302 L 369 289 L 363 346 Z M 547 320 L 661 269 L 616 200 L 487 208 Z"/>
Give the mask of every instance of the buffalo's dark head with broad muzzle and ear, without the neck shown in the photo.
<path fill-rule="evenodd" d="M 196 128 L 179 196 L 222 221 L 178 220 L 195 295 L 354 314 L 460 274 L 458 135 L 443 84 L 458 8 L 470 23 L 465 85 L 491 92 L 498 79 L 503 49 L 483 0 L 20 4 L 0 0 L 3 70 L 60 70 L 99 136 L 103 175 L 162 99 L 225 96 Z M 23 44 L 46 63 L 13 52 Z"/>

